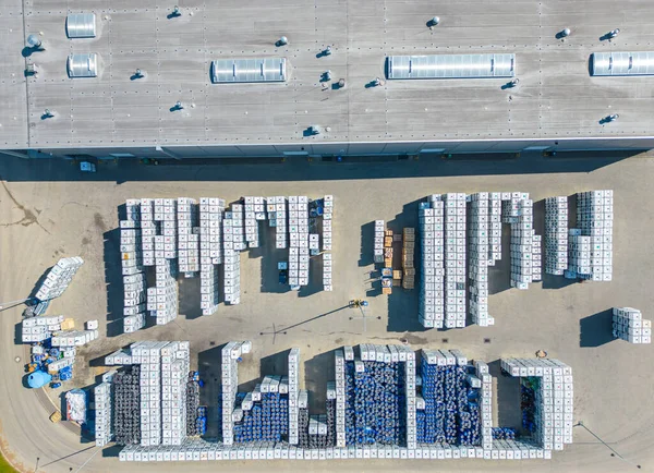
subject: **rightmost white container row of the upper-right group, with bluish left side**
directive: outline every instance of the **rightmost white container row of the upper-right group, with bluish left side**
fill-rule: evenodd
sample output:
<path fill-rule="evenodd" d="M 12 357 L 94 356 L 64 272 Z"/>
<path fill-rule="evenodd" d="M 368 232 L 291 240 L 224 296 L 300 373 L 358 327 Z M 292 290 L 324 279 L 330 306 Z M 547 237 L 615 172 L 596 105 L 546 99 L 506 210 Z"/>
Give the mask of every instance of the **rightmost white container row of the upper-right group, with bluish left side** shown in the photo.
<path fill-rule="evenodd" d="M 613 279 L 613 191 L 589 191 L 577 194 L 577 226 L 591 238 L 591 274 L 593 281 Z"/>

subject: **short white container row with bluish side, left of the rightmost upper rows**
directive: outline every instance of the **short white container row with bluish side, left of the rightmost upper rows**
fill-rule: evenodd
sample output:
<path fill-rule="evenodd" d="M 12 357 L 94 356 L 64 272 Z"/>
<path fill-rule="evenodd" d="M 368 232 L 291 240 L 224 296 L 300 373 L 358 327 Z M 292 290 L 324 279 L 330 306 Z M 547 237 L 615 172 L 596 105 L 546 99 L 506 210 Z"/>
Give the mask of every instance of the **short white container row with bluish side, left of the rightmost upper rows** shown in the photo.
<path fill-rule="evenodd" d="M 568 197 L 545 199 L 545 272 L 562 276 L 568 269 Z"/>

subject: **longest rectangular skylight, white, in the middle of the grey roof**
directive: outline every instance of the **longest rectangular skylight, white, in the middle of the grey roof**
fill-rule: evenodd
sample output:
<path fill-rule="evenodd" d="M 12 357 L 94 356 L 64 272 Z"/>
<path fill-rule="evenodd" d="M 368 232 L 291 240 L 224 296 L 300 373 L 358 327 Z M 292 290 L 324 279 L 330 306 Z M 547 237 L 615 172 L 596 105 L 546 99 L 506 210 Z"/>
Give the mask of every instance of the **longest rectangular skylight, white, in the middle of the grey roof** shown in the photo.
<path fill-rule="evenodd" d="M 516 54 L 389 56 L 388 78 L 512 77 Z"/>

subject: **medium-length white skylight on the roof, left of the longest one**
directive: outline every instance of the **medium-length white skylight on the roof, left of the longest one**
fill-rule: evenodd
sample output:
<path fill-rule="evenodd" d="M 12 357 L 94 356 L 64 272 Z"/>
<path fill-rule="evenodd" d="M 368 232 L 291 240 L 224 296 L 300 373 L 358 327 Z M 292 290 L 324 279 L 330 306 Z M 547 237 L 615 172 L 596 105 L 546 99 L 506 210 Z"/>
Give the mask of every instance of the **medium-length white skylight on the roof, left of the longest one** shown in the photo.
<path fill-rule="evenodd" d="M 211 63 L 214 83 L 284 82 L 284 58 L 219 59 Z"/>

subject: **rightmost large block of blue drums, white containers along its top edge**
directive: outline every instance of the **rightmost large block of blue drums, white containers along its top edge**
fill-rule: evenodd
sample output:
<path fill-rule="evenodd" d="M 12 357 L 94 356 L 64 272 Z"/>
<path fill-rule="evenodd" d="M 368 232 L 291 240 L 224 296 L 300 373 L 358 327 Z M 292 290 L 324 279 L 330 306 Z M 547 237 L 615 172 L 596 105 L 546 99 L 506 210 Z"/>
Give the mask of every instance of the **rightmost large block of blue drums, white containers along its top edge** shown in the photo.
<path fill-rule="evenodd" d="M 481 383 L 474 381 L 471 371 L 462 355 L 447 350 L 423 351 L 420 372 L 424 407 L 421 401 L 423 409 L 416 411 L 419 444 L 481 444 Z"/>

